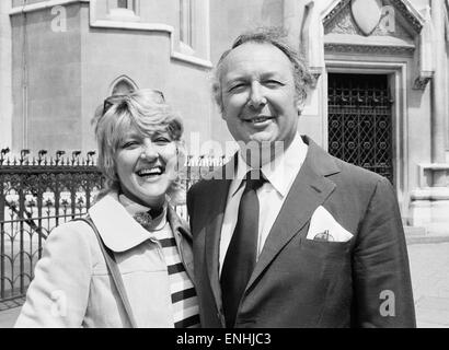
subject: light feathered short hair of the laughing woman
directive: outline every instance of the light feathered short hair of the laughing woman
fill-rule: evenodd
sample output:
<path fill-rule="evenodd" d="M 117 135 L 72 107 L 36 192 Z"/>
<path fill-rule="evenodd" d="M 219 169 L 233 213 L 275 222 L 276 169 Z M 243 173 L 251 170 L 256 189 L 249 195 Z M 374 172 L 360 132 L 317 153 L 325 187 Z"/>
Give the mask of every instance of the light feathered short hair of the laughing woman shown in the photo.
<path fill-rule="evenodd" d="M 156 90 L 139 90 L 126 95 L 112 95 L 95 110 L 92 125 L 95 129 L 99 160 L 97 167 L 106 177 L 106 186 L 99 194 L 103 198 L 112 190 L 120 191 L 115 156 L 118 147 L 130 129 L 145 136 L 168 132 L 176 142 L 177 162 L 184 159 L 184 131 L 181 117 L 165 103 L 163 94 Z M 172 202 L 182 200 L 184 194 L 180 176 L 172 183 L 168 195 Z"/>

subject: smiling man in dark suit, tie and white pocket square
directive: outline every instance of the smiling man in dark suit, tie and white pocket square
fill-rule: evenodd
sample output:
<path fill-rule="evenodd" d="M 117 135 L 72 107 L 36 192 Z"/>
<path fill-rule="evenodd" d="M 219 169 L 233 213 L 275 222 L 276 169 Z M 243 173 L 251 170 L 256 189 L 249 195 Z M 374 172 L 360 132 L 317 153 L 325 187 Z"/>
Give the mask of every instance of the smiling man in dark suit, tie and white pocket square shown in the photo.
<path fill-rule="evenodd" d="M 203 327 L 415 327 L 392 186 L 297 131 L 304 62 L 255 31 L 216 74 L 241 149 L 187 196 Z"/>

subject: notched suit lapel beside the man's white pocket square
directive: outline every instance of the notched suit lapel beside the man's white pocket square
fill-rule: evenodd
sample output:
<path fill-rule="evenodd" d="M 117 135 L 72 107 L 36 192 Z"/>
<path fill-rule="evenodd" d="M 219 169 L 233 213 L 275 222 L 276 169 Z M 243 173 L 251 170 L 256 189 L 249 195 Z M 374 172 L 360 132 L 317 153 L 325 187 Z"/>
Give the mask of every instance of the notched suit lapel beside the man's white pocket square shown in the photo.
<path fill-rule="evenodd" d="M 339 172 L 334 161 L 310 139 L 306 142 L 309 143 L 306 161 L 273 224 L 246 289 L 335 189 L 335 184 L 325 177 Z"/>

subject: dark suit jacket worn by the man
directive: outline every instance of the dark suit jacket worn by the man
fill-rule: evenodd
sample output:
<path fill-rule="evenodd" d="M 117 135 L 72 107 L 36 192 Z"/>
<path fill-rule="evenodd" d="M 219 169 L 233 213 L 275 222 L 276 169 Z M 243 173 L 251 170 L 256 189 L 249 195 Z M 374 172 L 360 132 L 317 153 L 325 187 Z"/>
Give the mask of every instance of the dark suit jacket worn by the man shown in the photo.
<path fill-rule="evenodd" d="M 392 186 L 303 139 L 306 161 L 265 242 L 235 327 L 415 327 Z M 230 183 L 203 180 L 187 196 L 203 327 L 225 326 L 218 256 Z M 319 206 L 354 235 L 350 241 L 306 240 Z"/>

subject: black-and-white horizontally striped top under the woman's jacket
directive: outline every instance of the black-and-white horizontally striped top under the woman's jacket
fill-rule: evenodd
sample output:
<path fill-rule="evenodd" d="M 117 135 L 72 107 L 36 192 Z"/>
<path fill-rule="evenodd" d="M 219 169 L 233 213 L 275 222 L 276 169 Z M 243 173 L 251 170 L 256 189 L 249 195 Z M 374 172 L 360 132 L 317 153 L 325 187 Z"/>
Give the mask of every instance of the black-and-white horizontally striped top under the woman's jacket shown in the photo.
<path fill-rule="evenodd" d="M 198 299 L 181 256 L 169 223 L 161 231 L 152 232 L 162 247 L 169 270 L 175 328 L 198 328 Z"/>

